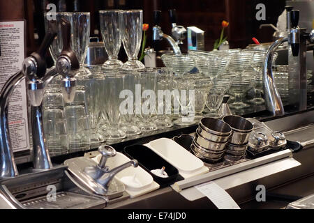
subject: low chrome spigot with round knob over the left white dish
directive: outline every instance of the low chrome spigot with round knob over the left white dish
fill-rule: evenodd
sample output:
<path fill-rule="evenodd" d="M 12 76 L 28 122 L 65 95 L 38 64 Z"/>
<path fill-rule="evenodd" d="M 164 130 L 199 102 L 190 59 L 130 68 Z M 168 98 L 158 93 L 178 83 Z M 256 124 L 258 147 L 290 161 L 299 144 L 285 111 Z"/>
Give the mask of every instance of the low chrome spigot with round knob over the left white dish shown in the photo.
<path fill-rule="evenodd" d="M 112 148 L 112 146 L 107 145 L 100 146 L 98 148 L 98 152 L 102 155 L 100 162 L 96 166 L 86 167 L 84 169 L 84 173 L 87 174 L 87 176 L 93 178 L 105 190 L 108 189 L 109 183 L 120 171 L 131 166 L 138 166 L 137 160 L 130 160 L 129 162 L 126 162 L 125 164 L 110 170 L 109 167 L 106 166 L 107 158 L 114 157 L 117 152 L 114 150 L 114 148 Z"/>

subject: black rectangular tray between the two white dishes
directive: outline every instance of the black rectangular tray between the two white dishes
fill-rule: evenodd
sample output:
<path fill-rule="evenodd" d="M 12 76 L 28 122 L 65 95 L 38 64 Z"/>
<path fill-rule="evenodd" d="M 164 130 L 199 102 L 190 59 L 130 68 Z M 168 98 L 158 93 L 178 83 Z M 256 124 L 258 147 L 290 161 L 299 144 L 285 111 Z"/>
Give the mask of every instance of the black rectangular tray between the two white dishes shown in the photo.
<path fill-rule="evenodd" d="M 154 178 L 156 183 L 160 185 L 160 187 L 167 187 L 169 185 L 172 185 L 174 182 L 184 180 L 184 178 L 179 175 L 179 171 L 177 168 L 172 166 L 172 164 L 164 160 L 163 157 L 160 157 L 160 155 L 152 151 L 147 146 L 126 146 L 124 148 L 124 153 L 130 159 L 137 160 L 140 164 L 140 167 L 142 167 L 145 171 L 151 174 L 151 176 Z M 162 167 L 165 167 L 165 171 L 167 172 L 169 177 L 162 178 L 151 173 L 151 170 L 161 169 Z"/>

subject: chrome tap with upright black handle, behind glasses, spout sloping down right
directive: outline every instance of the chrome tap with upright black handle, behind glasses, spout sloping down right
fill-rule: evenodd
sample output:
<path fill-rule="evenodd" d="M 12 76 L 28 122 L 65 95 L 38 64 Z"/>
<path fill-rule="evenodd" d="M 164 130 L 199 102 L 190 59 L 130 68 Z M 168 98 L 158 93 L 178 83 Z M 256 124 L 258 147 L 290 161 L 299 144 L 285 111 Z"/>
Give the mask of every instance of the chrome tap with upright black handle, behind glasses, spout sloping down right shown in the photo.
<path fill-rule="evenodd" d="M 168 36 L 167 34 L 163 33 L 163 31 L 161 31 L 160 26 L 158 26 L 158 24 L 160 24 L 160 15 L 161 11 L 158 10 L 154 11 L 154 21 L 156 25 L 153 27 L 153 40 L 159 41 L 166 39 L 168 43 L 170 43 L 170 45 L 172 46 L 174 54 L 181 54 L 181 49 L 174 41 L 174 39 L 171 36 Z"/>

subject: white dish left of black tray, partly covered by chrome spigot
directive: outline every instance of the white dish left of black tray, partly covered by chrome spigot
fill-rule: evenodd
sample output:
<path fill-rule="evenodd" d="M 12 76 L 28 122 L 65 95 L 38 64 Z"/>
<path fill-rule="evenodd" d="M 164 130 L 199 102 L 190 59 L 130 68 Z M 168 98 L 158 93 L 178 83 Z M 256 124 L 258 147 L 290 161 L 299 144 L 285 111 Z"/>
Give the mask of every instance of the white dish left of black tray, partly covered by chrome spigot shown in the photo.
<path fill-rule="evenodd" d="M 94 157 L 93 160 L 98 163 L 100 158 L 101 158 L 101 155 L 99 154 L 96 157 Z M 117 152 L 117 155 L 107 159 L 106 165 L 110 169 L 113 169 L 128 161 L 130 161 L 130 159 L 126 157 L 126 155 Z M 127 177 L 133 178 L 134 175 L 135 175 L 137 183 L 136 184 L 128 183 L 126 181 L 126 178 Z M 154 182 L 153 177 L 149 173 L 147 173 L 147 171 L 144 171 L 142 167 L 136 167 L 136 168 L 128 167 L 124 169 L 123 171 L 119 172 L 115 176 L 115 178 L 119 180 L 121 183 L 124 183 L 126 187 L 126 192 L 130 194 L 130 197 L 137 197 L 137 196 L 140 196 L 142 194 L 151 192 L 159 188 L 158 183 Z"/>

